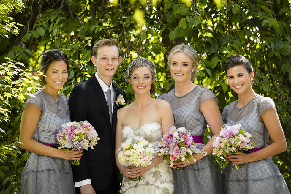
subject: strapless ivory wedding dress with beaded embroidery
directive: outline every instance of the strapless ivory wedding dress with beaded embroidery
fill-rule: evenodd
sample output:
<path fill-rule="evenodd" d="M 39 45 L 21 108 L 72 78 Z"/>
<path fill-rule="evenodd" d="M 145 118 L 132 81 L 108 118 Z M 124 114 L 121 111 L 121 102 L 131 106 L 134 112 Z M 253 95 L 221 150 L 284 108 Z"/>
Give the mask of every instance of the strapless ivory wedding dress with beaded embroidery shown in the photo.
<path fill-rule="evenodd" d="M 121 132 L 123 141 L 138 136 L 151 143 L 153 148 L 161 141 L 162 135 L 162 125 L 152 121 L 143 123 L 137 128 L 126 124 Z M 142 174 L 141 179 L 140 181 L 129 181 L 123 177 L 121 186 L 122 193 L 174 193 L 173 174 L 168 164 L 159 163 L 155 165 L 151 170 Z"/>

